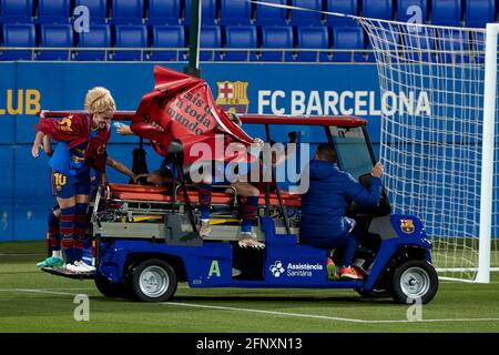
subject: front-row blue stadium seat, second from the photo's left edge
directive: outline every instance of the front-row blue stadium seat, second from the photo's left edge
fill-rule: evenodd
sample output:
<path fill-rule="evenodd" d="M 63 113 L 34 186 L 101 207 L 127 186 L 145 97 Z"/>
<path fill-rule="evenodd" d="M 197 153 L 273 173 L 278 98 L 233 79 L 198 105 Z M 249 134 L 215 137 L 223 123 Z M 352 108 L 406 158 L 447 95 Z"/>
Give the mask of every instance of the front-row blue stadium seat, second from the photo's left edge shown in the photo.
<path fill-rule="evenodd" d="M 40 27 L 40 47 L 65 48 L 61 50 L 40 50 L 39 60 L 70 60 L 73 45 L 71 24 L 42 24 Z"/>

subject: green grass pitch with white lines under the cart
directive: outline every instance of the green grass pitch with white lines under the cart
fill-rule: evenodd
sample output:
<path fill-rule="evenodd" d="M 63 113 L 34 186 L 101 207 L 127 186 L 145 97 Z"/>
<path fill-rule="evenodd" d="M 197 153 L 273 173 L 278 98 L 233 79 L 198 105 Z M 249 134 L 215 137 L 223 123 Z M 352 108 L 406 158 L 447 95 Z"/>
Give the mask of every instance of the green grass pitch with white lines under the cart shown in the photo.
<path fill-rule="evenodd" d="M 499 273 L 490 284 L 440 281 L 421 321 L 408 321 L 410 305 L 349 290 L 192 290 L 181 283 L 163 304 L 106 298 L 93 281 L 39 271 L 43 244 L 0 243 L 0 333 L 499 332 Z M 73 317 L 77 294 L 90 297 L 88 322 Z"/>

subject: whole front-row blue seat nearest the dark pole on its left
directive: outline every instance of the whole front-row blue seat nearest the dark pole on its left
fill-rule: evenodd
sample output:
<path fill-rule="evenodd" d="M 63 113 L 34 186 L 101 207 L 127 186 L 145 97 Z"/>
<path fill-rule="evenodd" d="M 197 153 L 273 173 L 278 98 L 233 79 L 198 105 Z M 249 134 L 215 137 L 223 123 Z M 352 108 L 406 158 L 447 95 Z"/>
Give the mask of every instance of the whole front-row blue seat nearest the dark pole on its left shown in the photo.
<path fill-rule="evenodd" d="M 183 26 L 155 26 L 152 29 L 153 48 L 185 48 L 185 30 Z M 151 51 L 151 60 L 180 61 L 183 60 L 183 51 Z"/>

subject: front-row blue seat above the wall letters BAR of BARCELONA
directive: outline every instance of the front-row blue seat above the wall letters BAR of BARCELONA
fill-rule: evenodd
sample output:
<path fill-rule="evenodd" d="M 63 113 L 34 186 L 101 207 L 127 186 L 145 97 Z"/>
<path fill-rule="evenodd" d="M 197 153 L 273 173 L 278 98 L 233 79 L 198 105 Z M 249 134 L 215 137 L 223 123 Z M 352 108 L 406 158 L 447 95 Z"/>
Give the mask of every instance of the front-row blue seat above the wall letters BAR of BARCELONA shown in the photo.
<path fill-rule="evenodd" d="M 326 27 L 298 27 L 296 29 L 296 48 L 298 49 L 328 49 L 329 36 Z M 318 53 L 318 55 L 317 55 Z M 327 52 L 302 52 L 296 51 L 296 61 L 298 62 L 327 62 L 329 55 Z"/>

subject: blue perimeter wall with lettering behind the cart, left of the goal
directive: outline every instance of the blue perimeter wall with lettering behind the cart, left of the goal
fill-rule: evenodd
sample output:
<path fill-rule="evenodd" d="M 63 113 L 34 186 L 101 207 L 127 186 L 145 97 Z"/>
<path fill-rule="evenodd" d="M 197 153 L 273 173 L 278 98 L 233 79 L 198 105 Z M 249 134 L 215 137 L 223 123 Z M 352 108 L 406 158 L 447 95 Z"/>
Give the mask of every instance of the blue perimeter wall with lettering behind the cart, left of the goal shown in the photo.
<path fill-rule="evenodd" d="M 184 65 L 167 64 L 177 71 Z M 307 109 L 305 113 L 309 114 L 364 116 L 369 120 L 378 154 L 380 98 L 374 64 L 206 63 L 201 69 L 215 98 L 216 82 L 246 82 L 248 113 L 292 114 Z M 37 109 L 37 101 L 44 110 L 82 110 L 86 91 L 95 85 L 111 90 L 119 110 L 134 111 L 142 95 L 153 88 L 153 64 L 1 62 L 0 78 L 0 242 L 44 239 L 54 200 L 48 158 L 31 158 L 32 126 L 38 116 L 27 112 Z M 27 93 L 33 101 L 28 105 Z M 297 100 L 293 101 L 293 95 Z M 12 110 L 18 114 L 10 114 Z M 138 141 L 113 132 L 109 154 L 131 168 L 131 152 Z M 147 146 L 149 168 L 155 169 L 161 160 Z M 124 183 L 128 178 L 109 170 L 109 180 Z"/>

